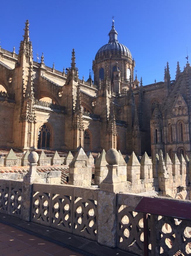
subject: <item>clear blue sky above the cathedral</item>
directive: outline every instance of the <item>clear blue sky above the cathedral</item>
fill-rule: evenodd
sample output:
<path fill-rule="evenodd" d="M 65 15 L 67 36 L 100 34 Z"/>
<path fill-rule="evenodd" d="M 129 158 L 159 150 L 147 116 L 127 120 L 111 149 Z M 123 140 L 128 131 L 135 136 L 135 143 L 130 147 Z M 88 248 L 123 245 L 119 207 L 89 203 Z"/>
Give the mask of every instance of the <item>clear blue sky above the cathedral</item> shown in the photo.
<path fill-rule="evenodd" d="M 24 34 L 26 19 L 30 23 L 33 55 L 44 52 L 45 64 L 62 71 L 76 52 L 79 78 L 88 79 L 98 49 L 108 43 L 108 33 L 115 18 L 118 40 L 129 48 L 136 62 L 137 77 L 143 84 L 163 81 L 164 66 L 169 62 L 171 79 L 176 64 L 181 71 L 191 58 L 190 0 L 33 0 L 2 1 L 1 47 L 12 51 Z"/>

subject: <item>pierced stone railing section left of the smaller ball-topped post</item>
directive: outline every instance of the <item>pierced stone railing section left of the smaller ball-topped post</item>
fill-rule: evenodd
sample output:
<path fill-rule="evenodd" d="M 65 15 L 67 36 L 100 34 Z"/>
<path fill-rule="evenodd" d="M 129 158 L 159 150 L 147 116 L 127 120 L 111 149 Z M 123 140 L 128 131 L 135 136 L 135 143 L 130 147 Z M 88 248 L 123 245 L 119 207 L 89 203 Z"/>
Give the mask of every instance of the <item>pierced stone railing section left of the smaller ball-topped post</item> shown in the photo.
<path fill-rule="evenodd" d="M 0 213 L 20 217 L 22 183 L 16 180 L 0 179 Z"/>

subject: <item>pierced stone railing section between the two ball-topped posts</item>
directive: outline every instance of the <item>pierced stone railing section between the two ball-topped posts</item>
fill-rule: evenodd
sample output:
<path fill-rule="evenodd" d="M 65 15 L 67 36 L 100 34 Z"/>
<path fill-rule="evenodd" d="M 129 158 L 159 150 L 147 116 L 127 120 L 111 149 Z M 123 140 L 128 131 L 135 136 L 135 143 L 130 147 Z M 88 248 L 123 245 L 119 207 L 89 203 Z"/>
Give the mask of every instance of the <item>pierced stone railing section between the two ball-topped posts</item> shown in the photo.
<path fill-rule="evenodd" d="M 33 184 L 32 222 L 97 241 L 98 189 Z"/>

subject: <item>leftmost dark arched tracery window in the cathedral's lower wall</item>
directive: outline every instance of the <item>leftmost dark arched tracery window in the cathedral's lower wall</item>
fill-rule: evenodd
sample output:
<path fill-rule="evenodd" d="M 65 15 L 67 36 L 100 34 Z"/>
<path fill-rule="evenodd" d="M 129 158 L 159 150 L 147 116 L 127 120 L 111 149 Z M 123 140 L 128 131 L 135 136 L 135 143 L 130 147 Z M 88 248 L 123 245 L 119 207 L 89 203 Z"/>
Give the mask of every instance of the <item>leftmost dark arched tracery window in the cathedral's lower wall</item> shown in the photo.
<path fill-rule="evenodd" d="M 43 124 L 38 131 L 37 148 L 50 149 L 50 135 L 50 128 L 47 126 L 47 124 Z"/>

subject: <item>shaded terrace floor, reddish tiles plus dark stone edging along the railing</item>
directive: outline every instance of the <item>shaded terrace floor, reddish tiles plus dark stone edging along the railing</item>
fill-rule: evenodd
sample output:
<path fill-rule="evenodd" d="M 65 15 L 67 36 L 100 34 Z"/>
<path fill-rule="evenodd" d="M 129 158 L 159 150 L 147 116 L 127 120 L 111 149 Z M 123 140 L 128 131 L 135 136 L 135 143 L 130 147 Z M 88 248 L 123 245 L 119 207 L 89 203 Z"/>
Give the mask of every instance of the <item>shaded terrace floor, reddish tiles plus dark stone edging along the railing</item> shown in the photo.
<path fill-rule="evenodd" d="M 1 255 L 134 256 L 83 237 L 0 213 Z"/>

